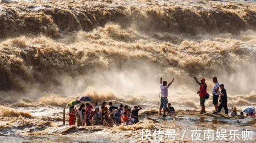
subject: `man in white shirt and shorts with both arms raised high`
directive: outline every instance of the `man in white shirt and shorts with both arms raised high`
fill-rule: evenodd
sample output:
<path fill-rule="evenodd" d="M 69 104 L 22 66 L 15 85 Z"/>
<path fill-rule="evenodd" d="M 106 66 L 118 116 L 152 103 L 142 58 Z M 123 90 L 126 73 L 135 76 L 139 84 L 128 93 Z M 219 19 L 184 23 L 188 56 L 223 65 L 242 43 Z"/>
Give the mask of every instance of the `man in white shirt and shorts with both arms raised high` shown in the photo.
<path fill-rule="evenodd" d="M 168 104 L 168 87 L 172 84 L 172 82 L 174 81 L 174 78 L 172 79 L 172 81 L 167 85 L 167 81 L 163 81 L 162 83 L 162 77 L 160 78 L 160 89 L 161 89 L 161 104 L 160 104 L 160 108 L 159 108 L 159 115 L 162 115 L 162 108 L 164 110 L 164 114 L 163 117 L 166 117 L 167 115 L 165 114 L 166 112 L 166 108 L 167 108 L 167 104 Z"/>

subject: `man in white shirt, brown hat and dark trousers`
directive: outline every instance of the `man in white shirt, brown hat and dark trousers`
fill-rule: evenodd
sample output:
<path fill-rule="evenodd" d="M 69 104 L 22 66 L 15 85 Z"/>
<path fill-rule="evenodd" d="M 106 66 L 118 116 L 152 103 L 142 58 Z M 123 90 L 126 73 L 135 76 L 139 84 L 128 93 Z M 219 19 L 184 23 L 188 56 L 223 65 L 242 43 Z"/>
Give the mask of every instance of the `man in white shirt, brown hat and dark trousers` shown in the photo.
<path fill-rule="evenodd" d="M 215 111 L 212 114 L 217 114 L 218 112 L 218 98 L 219 98 L 219 88 L 220 84 L 216 76 L 212 77 L 212 81 L 215 83 L 212 89 L 212 104 L 215 107 Z"/>

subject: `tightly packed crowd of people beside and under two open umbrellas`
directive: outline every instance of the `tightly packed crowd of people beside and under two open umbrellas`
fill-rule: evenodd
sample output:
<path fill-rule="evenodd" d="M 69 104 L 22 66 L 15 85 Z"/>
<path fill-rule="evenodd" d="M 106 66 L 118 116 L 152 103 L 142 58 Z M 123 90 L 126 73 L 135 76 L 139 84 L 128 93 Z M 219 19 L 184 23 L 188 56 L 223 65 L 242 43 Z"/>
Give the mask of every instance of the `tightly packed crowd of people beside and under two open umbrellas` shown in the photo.
<path fill-rule="evenodd" d="M 121 104 L 118 107 L 113 106 L 112 102 L 102 102 L 101 108 L 94 102 L 94 107 L 89 104 L 81 104 L 78 110 L 72 106 L 69 110 L 69 125 L 74 125 L 76 116 L 80 117 L 79 126 L 84 125 L 104 125 L 113 127 L 114 125 L 132 125 L 139 122 L 138 112 L 142 109 L 140 106 L 134 106 L 134 110 L 128 108 L 128 105 Z"/>

